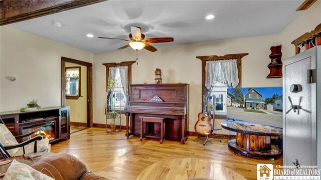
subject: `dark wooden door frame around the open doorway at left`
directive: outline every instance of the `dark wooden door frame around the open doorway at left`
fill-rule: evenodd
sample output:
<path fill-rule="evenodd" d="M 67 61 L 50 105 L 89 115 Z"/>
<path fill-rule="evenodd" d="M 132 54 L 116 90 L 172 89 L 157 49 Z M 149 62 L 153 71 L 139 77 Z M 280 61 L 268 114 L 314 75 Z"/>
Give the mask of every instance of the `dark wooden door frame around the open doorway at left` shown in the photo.
<path fill-rule="evenodd" d="M 65 68 L 66 62 L 71 62 L 87 67 L 87 127 L 93 126 L 93 110 L 92 110 L 92 63 L 85 62 L 68 57 L 61 57 L 61 106 L 66 106 L 66 83 L 65 83 Z"/>

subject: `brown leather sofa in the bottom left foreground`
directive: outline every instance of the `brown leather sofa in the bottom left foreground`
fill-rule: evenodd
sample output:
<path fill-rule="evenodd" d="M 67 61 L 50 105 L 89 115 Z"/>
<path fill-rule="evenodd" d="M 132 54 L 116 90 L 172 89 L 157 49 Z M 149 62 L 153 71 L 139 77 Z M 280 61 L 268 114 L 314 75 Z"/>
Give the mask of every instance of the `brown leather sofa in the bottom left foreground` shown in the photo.
<path fill-rule="evenodd" d="M 15 162 L 15 160 L 18 161 L 18 163 Z M 2 161 L 10 162 L 0 163 L 0 179 L 2 179 L 2 177 L 7 179 L 16 178 L 17 176 L 20 177 L 21 174 L 24 174 L 26 171 L 33 173 L 31 170 L 39 171 L 56 180 L 108 179 L 96 174 L 95 172 L 88 171 L 86 165 L 80 159 L 68 153 L 37 152 L 0 159 L 0 162 Z M 30 166 L 32 168 L 30 168 Z M 12 170 L 10 170 L 11 168 Z M 6 177 L 6 172 L 8 177 Z M 37 176 L 37 174 L 34 175 Z"/>

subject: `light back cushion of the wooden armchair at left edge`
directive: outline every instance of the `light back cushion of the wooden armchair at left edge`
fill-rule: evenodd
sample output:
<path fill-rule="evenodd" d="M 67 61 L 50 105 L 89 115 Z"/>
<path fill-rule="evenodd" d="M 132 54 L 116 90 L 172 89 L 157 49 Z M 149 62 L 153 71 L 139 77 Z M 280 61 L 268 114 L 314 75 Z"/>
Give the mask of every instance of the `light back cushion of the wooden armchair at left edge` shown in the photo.
<path fill-rule="evenodd" d="M 16 137 L 10 132 L 7 126 L 3 123 L 0 123 L 0 142 L 6 145 L 15 145 L 18 144 Z M 18 148 L 9 149 L 8 152 L 14 156 L 19 150 Z"/>

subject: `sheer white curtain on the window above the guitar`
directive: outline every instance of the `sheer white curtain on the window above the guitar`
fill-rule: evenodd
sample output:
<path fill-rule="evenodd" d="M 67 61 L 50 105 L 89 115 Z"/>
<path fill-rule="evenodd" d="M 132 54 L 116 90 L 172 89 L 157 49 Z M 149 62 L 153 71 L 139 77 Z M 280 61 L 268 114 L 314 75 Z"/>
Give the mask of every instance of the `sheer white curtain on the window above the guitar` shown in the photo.
<path fill-rule="evenodd" d="M 205 86 L 210 89 L 217 81 L 218 74 L 222 74 L 227 87 L 236 87 L 239 83 L 236 59 L 206 61 Z M 220 71 L 221 70 L 221 71 Z"/>

